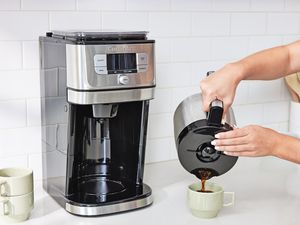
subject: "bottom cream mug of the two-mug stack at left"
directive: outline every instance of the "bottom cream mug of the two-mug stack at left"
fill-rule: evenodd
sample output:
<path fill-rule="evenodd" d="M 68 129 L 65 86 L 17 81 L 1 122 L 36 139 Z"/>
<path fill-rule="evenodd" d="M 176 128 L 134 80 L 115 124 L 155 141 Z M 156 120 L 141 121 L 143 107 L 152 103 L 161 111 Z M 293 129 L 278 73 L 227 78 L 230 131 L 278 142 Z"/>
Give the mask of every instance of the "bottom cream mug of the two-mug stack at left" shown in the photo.
<path fill-rule="evenodd" d="M 33 209 L 33 192 L 11 197 L 0 197 L 0 218 L 6 222 L 27 220 Z"/>

